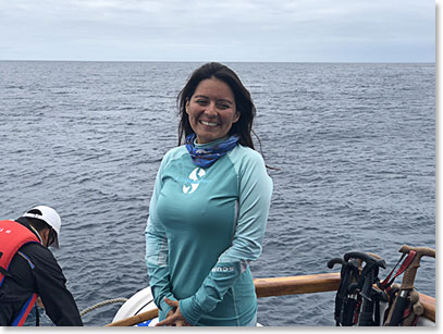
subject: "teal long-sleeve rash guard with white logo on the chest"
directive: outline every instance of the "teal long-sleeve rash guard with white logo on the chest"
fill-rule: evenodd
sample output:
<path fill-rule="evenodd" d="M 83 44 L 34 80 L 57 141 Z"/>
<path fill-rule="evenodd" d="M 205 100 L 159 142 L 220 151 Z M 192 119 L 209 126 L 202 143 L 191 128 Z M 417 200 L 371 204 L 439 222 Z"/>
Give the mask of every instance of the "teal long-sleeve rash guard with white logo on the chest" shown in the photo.
<path fill-rule="evenodd" d="M 257 296 L 248 263 L 261 253 L 271 194 L 263 159 L 250 148 L 237 145 L 205 169 L 184 146 L 164 156 L 146 227 L 146 263 L 160 320 L 171 310 L 164 297 L 180 300 L 193 325 L 246 325 L 254 319 Z"/>

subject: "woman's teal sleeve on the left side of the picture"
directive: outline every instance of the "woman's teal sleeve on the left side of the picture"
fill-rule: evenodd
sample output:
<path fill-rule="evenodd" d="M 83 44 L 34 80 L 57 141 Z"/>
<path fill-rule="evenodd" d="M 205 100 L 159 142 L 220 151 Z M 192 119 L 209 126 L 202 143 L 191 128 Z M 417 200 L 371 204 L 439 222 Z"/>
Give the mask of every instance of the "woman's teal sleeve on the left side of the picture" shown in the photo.
<path fill-rule="evenodd" d="M 157 199 L 161 190 L 161 171 L 167 161 L 163 158 L 156 177 L 152 197 L 149 203 L 149 218 L 145 230 L 146 236 L 146 265 L 148 268 L 149 286 L 153 302 L 160 309 L 160 319 L 163 319 L 172 309 L 164 301 L 164 297 L 176 300 L 171 292 L 170 272 L 168 264 L 168 238 L 164 227 L 157 215 Z"/>

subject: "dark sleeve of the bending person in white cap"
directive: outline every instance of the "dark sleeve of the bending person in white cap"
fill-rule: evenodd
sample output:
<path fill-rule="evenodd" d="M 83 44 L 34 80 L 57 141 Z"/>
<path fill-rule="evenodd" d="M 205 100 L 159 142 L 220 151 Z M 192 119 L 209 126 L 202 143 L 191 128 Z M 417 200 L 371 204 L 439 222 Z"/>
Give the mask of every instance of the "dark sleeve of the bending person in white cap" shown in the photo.
<path fill-rule="evenodd" d="M 33 251 L 29 258 L 35 263 L 33 273 L 36 293 L 45 305 L 46 313 L 58 326 L 82 326 L 77 305 L 66 288 L 62 269 L 49 249 L 40 245 L 35 246 L 40 249 Z"/>

